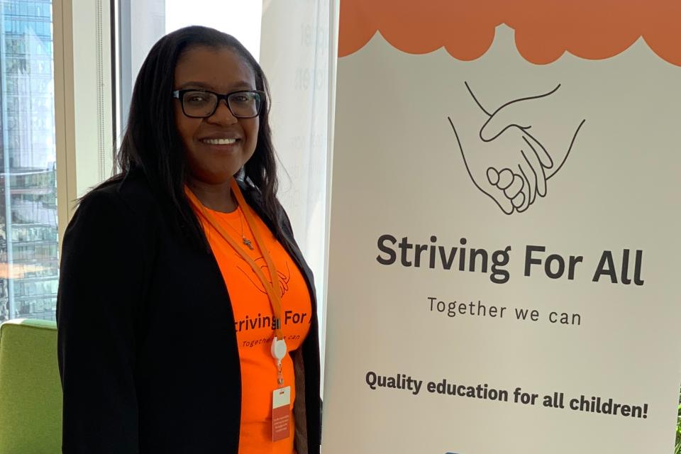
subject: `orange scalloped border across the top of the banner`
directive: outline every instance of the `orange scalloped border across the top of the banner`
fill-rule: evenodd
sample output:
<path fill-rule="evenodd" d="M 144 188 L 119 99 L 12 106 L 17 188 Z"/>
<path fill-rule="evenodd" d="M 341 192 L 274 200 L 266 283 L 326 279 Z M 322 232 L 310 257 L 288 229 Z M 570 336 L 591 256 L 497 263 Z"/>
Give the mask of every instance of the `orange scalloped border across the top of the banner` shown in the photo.
<path fill-rule="evenodd" d="M 444 47 L 458 60 L 481 57 L 505 23 L 529 62 L 564 52 L 613 57 L 643 37 L 681 66 L 681 0 L 341 0 L 338 55 L 360 50 L 378 31 L 394 48 L 423 54 Z"/>

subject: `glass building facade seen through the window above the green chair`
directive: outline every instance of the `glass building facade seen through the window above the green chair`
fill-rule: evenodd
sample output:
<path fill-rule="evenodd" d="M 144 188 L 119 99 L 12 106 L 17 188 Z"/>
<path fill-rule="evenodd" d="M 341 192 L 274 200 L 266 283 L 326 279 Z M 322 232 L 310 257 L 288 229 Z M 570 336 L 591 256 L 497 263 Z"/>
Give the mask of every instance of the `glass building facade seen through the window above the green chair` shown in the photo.
<path fill-rule="evenodd" d="M 0 0 L 0 321 L 54 319 L 52 1 Z"/>

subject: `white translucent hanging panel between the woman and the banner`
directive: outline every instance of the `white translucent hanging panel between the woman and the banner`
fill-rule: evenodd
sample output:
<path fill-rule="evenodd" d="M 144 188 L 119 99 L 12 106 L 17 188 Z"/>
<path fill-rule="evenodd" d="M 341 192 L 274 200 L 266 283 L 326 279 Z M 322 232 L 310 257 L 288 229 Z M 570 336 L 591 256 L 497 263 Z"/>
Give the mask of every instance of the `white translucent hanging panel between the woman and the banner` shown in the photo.
<path fill-rule="evenodd" d="M 272 90 L 271 123 L 281 161 L 279 199 L 315 275 L 324 351 L 327 163 L 335 46 L 331 0 L 264 0 L 260 65 Z M 330 40 L 331 37 L 331 40 Z M 285 172 L 284 172 L 285 170 Z"/>

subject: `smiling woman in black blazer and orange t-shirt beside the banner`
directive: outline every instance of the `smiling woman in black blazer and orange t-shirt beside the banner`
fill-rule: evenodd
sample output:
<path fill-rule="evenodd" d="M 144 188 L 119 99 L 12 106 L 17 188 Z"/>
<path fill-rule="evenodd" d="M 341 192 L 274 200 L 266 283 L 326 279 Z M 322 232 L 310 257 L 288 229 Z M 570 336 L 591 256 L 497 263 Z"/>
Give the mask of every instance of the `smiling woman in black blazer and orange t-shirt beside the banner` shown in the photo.
<path fill-rule="evenodd" d="M 121 174 L 64 238 L 65 453 L 319 453 L 314 284 L 275 196 L 267 92 L 211 28 L 146 58 Z"/>

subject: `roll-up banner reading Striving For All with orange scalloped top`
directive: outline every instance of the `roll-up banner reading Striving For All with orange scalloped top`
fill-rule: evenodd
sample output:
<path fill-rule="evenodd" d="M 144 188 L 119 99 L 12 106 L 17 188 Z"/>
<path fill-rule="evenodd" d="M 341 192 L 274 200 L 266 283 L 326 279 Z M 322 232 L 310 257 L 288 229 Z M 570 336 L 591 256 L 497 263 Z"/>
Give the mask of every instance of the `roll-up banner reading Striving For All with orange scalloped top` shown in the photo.
<path fill-rule="evenodd" d="M 324 454 L 672 453 L 680 22 L 341 0 Z"/>

